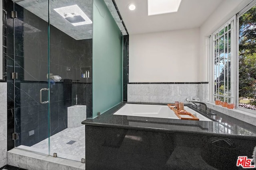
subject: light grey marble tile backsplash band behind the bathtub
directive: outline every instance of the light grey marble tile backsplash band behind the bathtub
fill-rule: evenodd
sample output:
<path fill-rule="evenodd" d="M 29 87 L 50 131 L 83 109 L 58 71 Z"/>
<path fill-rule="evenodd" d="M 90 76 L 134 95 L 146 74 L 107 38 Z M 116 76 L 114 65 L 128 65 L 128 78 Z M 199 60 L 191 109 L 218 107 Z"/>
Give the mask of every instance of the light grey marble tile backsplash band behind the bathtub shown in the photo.
<path fill-rule="evenodd" d="M 208 101 L 208 84 L 128 84 L 128 102 L 186 103 L 186 98 Z"/>

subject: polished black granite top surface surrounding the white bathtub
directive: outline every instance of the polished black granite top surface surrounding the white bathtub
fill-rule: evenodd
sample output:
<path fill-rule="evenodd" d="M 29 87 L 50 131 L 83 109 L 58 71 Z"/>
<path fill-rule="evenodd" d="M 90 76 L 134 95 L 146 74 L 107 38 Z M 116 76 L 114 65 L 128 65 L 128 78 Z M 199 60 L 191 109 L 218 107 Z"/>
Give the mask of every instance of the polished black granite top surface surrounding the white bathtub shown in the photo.
<path fill-rule="evenodd" d="M 128 103 L 152 104 L 133 102 Z M 210 116 L 210 118 L 215 121 L 191 121 L 181 119 L 113 115 L 113 113 L 115 113 L 125 104 L 126 102 L 122 102 L 94 119 L 86 119 L 85 121 L 82 121 L 82 124 L 103 127 L 120 127 L 126 129 L 164 131 L 170 133 L 182 132 L 204 135 L 216 135 L 218 137 L 227 137 L 228 135 L 229 137 L 239 137 L 256 140 L 256 126 L 246 123 L 244 121 L 240 121 L 218 111 L 212 110 L 212 112 L 216 115 Z M 191 105 L 187 106 L 191 108 Z M 201 114 L 208 117 L 203 113 Z"/>

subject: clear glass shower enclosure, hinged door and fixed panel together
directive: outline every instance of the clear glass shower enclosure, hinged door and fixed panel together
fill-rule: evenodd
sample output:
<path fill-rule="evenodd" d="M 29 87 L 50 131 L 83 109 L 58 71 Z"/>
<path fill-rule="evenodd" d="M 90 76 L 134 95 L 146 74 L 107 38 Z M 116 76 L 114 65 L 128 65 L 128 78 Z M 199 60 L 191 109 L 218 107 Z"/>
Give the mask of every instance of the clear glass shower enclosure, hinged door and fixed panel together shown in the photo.
<path fill-rule="evenodd" d="M 92 0 L 13 2 L 15 147 L 81 161 L 81 121 L 92 117 Z"/>

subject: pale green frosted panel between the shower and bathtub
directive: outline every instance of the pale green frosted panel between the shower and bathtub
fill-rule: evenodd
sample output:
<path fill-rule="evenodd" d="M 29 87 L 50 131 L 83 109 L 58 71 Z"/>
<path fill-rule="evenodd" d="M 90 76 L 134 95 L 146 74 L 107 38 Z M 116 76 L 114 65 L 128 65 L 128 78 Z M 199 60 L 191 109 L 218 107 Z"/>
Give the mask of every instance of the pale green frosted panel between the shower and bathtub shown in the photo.
<path fill-rule="evenodd" d="M 122 102 L 123 36 L 103 0 L 93 4 L 92 117 Z"/>

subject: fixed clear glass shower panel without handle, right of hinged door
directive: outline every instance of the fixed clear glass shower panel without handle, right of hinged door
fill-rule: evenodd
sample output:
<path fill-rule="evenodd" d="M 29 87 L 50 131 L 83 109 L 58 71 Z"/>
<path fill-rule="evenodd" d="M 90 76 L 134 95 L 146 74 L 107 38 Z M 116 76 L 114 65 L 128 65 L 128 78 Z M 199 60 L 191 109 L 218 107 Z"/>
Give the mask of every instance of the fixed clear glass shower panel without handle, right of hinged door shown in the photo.
<path fill-rule="evenodd" d="M 50 1 L 50 155 L 85 159 L 92 115 L 92 0 Z"/>

